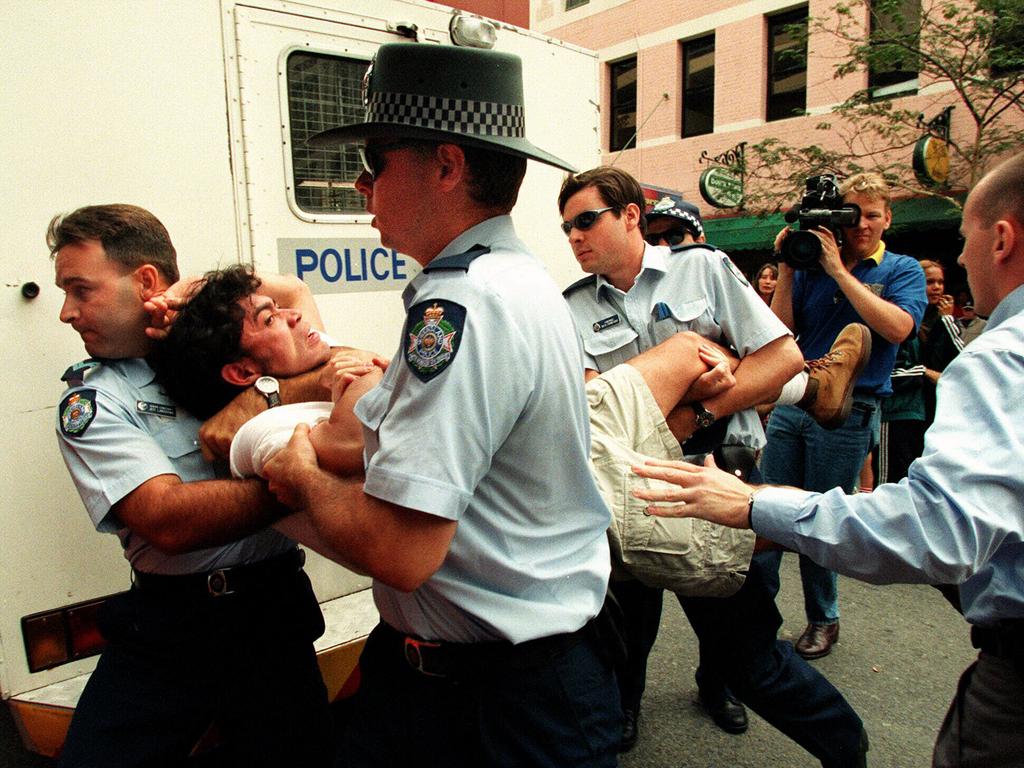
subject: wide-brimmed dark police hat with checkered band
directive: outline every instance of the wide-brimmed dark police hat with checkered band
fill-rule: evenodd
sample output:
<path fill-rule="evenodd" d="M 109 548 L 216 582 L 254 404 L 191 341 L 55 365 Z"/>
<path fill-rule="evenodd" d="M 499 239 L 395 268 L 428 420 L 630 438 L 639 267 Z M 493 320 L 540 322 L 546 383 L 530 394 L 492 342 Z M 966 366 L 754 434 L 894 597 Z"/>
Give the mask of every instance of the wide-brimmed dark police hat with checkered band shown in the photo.
<path fill-rule="evenodd" d="M 571 164 L 526 140 L 522 61 L 511 53 L 427 43 L 387 43 L 362 80 L 366 120 L 311 136 L 310 146 L 411 137 Z"/>

